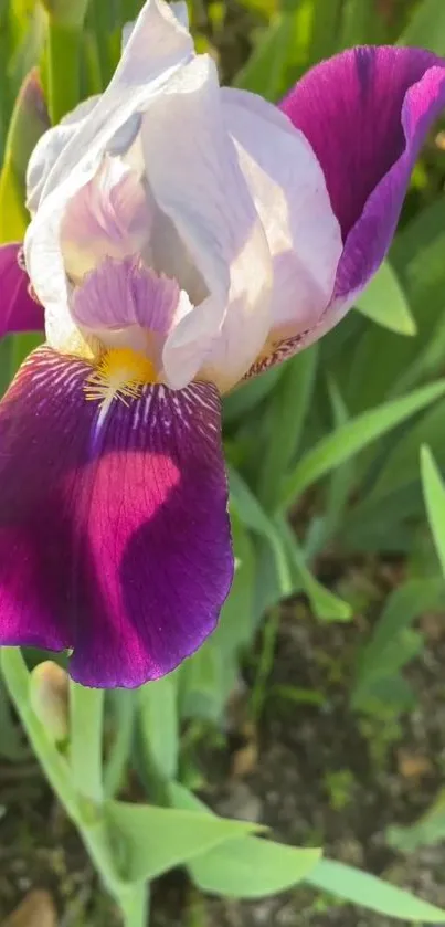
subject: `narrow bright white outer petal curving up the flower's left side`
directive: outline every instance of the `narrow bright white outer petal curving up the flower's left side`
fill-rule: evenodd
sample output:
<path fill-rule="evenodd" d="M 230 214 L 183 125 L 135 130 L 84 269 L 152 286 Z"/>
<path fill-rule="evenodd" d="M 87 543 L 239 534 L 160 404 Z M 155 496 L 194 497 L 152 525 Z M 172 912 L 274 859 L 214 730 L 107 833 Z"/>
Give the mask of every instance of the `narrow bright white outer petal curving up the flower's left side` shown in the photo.
<path fill-rule="evenodd" d="M 161 0 L 149 0 L 108 88 L 89 117 L 80 124 L 45 179 L 24 246 L 28 272 L 46 310 L 46 336 L 54 347 L 63 347 L 71 323 L 60 249 L 66 202 L 95 175 L 118 129 L 134 113 L 146 109 L 192 55 L 191 38 L 168 6 Z"/>

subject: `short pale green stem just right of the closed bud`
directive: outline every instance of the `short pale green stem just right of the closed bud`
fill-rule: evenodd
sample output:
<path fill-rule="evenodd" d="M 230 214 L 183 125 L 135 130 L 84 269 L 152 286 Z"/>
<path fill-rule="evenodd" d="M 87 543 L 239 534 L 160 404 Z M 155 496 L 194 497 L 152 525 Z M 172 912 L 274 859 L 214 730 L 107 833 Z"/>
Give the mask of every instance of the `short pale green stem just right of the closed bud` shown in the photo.
<path fill-rule="evenodd" d="M 78 793 L 103 800 L 104 691 L 70 683 L 71 772 Z"/>

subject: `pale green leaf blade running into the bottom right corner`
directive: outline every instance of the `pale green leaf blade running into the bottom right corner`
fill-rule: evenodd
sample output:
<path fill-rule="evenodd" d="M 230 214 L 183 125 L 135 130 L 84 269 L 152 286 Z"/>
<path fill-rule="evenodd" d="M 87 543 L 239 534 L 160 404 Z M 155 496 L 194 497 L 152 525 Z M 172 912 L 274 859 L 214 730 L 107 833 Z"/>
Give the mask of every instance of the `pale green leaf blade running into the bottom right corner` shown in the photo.
<path fill-rule="evenodd" d="M 445 924 L 445 912 L 402 888 L 383 882 L 375 875 L 369 875 L 345 863 L 320 860 L 305 881 L 314 888 L 329 892 L 337 898 L 385 914 L 388 917 L 396 917 L 410 923 L 414 920 Z"/>

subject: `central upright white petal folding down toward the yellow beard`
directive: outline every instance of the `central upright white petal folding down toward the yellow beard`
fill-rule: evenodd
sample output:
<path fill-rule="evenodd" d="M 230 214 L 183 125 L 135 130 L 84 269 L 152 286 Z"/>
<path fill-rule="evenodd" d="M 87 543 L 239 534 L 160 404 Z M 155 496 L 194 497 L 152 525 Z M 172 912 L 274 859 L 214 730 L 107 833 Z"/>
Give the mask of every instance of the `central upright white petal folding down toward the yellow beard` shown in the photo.
<path fill-rule="evenodd" d="M 268 331 L 272 268 L 264 230 L 224 125 L 210 57 L 197 57 L 171 81 L 144 116 L 141 138 L 153 198 L 208 291 L 166 343 L 167 379 L 173 387 L 184 386 L 219 347 L 224 369 L 218 370 L 216 382 L 235 380 Z M 156 234 L 155 224 L 155 243 Z M 170 266 L 160 270 L 171 274 Z M 184 287 L 181 277 L 179 283 Z"/>

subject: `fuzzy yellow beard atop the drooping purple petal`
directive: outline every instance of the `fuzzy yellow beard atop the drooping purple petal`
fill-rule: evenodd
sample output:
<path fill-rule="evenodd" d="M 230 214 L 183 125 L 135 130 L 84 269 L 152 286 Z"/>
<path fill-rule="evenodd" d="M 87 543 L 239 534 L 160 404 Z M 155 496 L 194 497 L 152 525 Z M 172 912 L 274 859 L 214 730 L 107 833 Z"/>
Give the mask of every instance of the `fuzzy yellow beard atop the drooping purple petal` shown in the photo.
<path fill-rule="evenodd" d="M 131 348 L 112 348 L 100 356 L 86 378 L 85 398 L 98 401 L 105 413 L 114 399 L 128 405 L 144 386 L 156 381 L 155 367 L 148 357 Z"/>

